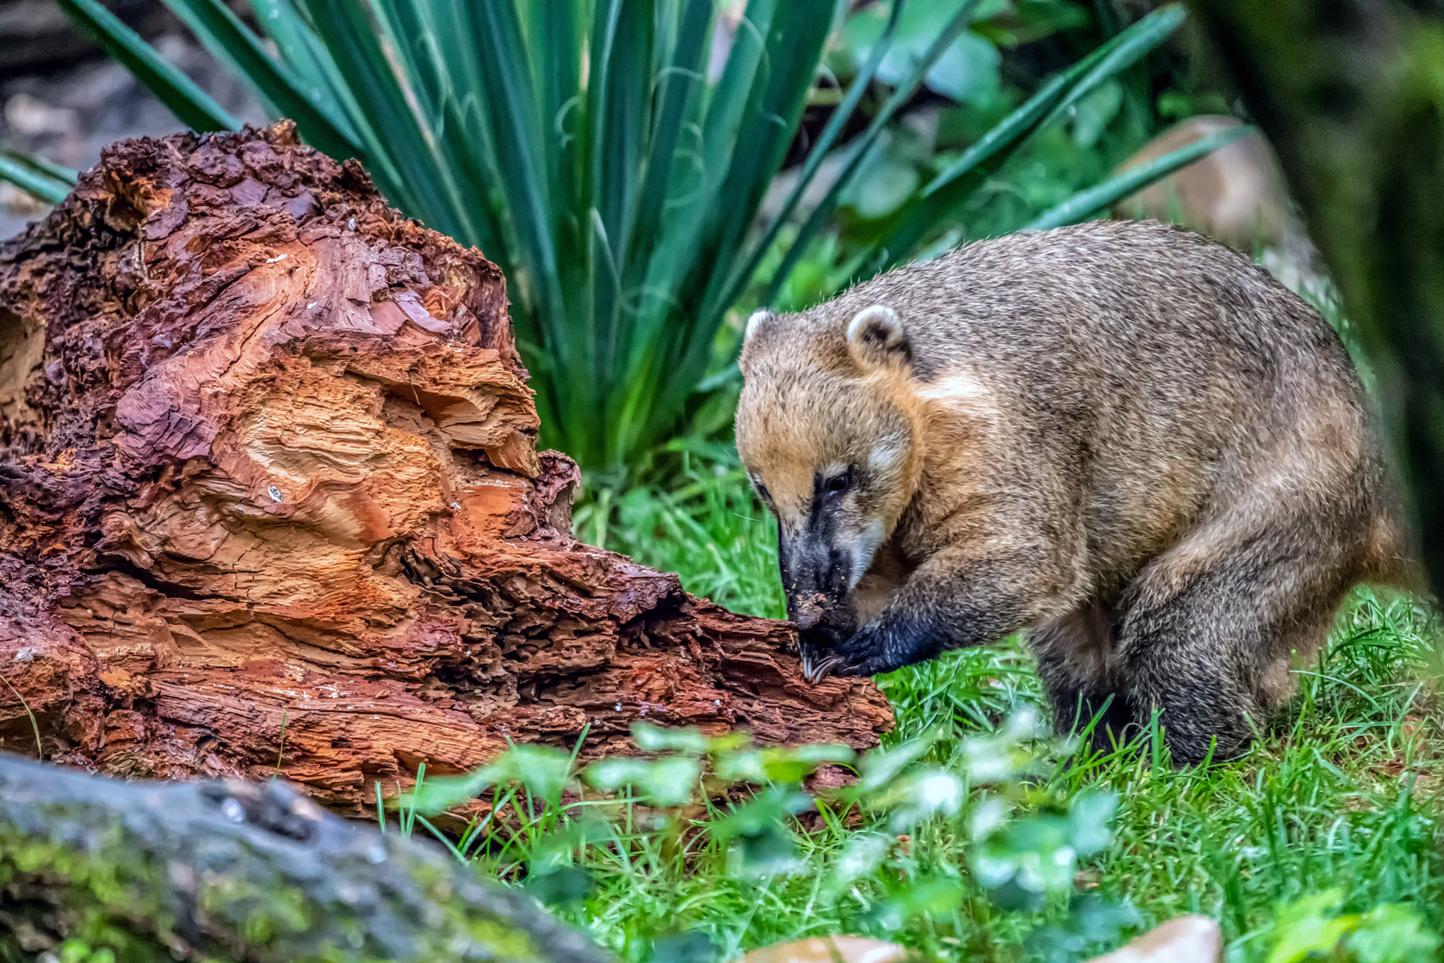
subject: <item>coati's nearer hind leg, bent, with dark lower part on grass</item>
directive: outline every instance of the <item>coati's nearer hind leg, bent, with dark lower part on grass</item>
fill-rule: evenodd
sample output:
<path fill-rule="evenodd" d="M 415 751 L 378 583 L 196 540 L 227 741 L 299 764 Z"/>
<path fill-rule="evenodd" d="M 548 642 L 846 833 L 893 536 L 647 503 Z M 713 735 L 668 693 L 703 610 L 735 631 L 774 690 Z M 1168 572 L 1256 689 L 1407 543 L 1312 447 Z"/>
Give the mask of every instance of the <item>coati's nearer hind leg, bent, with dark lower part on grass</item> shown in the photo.
<path fill-rule="evenodd" d="M 1291 692 L 1292 651 L 1327 634 L 1352 559 L 1347 539 L 1305 517 L 1252 533 L 1206 527 L 1149 563 L 1119 622 L 1135 722 L 1162 712 L 1175 764 L 1246 749 Z"/>

